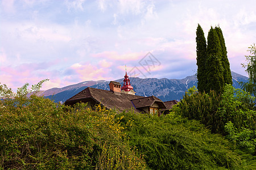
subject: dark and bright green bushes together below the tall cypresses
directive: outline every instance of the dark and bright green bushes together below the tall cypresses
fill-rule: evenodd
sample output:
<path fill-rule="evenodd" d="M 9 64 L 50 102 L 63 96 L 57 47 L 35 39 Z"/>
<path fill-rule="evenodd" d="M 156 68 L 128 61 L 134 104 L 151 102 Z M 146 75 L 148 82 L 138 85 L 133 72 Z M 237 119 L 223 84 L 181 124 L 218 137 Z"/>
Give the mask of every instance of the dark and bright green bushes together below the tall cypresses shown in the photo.
<path fill-rule="evenodd" d="M 255 97 L 226 85 L 221 96 L 210 91 L 201 94 L 194 88 L 186 92 L 173 112 L 190 120 L 199 120 L 213 133 L 226 135 L 242 155 L 256 167 L 256 111 Z"/>

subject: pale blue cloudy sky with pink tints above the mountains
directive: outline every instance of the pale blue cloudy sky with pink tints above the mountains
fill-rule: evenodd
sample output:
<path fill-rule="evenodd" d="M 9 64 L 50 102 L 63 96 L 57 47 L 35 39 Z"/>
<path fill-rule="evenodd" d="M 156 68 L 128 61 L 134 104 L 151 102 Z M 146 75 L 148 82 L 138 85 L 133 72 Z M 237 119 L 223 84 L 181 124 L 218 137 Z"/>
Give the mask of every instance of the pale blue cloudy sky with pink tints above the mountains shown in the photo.
<path fill-rule="evenodd" d="M 196 74 L 196 28 L 220 25 L 230 69 L 247 75 L 256 1 L 0 1 L 0 83 L 42 90 L 86 80 Z"/>

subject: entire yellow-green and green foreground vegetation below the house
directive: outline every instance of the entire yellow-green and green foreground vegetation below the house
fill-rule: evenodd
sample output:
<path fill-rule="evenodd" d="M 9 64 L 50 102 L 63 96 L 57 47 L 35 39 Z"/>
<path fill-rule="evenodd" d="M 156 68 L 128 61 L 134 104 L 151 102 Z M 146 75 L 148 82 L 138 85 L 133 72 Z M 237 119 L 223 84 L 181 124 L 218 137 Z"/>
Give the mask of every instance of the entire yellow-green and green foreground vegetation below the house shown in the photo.
<path fill-rule="evenodd" d="M 16 94 L 0 87 L 1 169 L 255 168 L 252 154 L 243 156 L 222 135 L 181 117 L 179 109 L 155 117 L 100 105 L 71 108 L 27 98 L 27 86 Z"/>

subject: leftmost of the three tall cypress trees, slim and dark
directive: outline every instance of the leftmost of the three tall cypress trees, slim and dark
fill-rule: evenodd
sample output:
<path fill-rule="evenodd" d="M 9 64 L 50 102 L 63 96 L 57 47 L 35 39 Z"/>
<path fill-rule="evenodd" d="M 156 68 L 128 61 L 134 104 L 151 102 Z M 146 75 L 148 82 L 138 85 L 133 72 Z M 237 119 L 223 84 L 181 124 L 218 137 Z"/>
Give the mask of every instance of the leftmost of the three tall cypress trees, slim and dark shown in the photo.
<path fill-rule="evenodd" d="M 207 59 L 207 42 L 205 40 L 204 31 L 198 24 L 196 29 L 196 65 L 197 65 L 197 89 L 204 92 L 207 87 L 207 70 L 205 69 L 205 61 Z"/>

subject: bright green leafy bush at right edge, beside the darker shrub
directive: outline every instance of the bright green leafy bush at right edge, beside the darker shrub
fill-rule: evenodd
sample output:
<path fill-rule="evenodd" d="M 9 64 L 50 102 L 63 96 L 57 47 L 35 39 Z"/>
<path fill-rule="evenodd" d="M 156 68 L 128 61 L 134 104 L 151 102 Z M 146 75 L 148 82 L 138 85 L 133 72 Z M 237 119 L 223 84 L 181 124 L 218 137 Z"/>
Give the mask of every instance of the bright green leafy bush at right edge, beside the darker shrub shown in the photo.
<path fill-rule="evenodd" d="M 226 138 L 237 145 L 237 148 L 256 156 L 256 112 L 255 97 L 235 89 L 225 87 L 218 113 L 224 122 Z M 256 164 L 256 162 L 255 162 Z"/>

